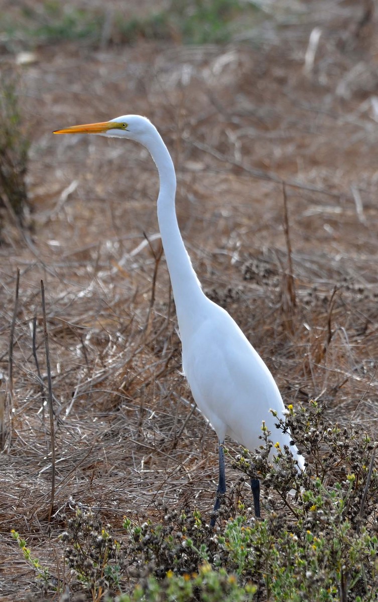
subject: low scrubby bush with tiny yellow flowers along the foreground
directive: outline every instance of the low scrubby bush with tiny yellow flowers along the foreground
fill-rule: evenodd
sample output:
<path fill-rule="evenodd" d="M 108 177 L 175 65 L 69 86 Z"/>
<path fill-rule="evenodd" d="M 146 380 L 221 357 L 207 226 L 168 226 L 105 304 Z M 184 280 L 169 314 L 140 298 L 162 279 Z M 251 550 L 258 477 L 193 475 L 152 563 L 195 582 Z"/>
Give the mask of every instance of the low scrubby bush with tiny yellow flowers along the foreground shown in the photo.
<path fill-rule="evenodd" d="M 315 402 L 297 414 L 288 406 L 277 427 L 294 433 L 305 473 L 288 448 L 277 448 L 270 463 L 274 436 L 264 426 L 259 449 L 234 460 L 261 479 L 264 520 L 243 504 L 240 483 L 225 496 L 214 530 L 195 509 L 164 508 L 157 524 L 125 518 L 117 539 L 82 505 L 61 517 L 66 563 L 92 600 L 107 591 L 119 602 L 377 600 L 378 444 L 350 424 L 329 426 Z M 34 565 L 29 550 L 28 559 Z M 41 576 L 39 563 L 34 568 Z"/>

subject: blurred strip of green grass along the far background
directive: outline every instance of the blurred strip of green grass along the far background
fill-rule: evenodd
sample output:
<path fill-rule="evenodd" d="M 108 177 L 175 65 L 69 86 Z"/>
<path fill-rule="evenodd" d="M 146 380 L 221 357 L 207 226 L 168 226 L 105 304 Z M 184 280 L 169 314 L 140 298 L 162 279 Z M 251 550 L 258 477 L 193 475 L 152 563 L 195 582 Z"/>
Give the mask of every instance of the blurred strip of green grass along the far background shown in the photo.
<path fill-rule="evenodd" d="M 149 8 L 142 3 L 132 11 L 114 4 L 46 0 L 2 11 L 1 41 L 8 49 L 21 43 L 33 49 L 61 40 L 85 40 L 95 46 L 138 39 L 223 43 L 252 25 L 260 12 L 258 2 L 245 0 L 150 2 Z"/>

